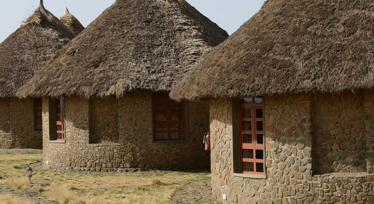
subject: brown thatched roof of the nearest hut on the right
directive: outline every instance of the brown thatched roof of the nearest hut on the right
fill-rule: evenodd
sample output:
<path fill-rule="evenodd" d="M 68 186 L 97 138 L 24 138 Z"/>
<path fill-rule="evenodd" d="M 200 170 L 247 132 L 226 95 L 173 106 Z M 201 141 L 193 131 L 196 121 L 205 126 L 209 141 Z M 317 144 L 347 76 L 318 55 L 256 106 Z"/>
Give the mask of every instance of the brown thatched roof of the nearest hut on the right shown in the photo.
<path fill-rule="evenodd" d="M 171 92 L 177 100 L 374 88 L 374 2 L 267 0 Z"/>

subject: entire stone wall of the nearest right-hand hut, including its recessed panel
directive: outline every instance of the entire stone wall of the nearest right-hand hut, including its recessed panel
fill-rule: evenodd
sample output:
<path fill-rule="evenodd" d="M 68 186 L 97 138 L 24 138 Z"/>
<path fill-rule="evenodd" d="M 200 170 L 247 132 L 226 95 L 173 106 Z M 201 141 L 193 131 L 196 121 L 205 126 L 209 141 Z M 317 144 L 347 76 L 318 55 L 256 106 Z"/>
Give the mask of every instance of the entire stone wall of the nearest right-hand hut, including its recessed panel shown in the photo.
<path fill-rule="evenodd" d="M 369 92 L 264 98 L 266 175 L 263 178 L 249 178 L 235 170 L 238 136 L 233 104 L 237 103 L 211 99 L 213 196 L 224 203 L 374 203 L 373 99 L 373 93 Z M 346 127 L 345 117 L 349 117 L 349 124 L 340 132 L 341 127 Z M 365 126 L 357 121 L 364 121 Z M 364 135 L 362 129 L 366 129 Z M 319 139 L 321 142 L 316 142 Z M 334 142 L 329 142 L 330 139 Z M 341 143 L 337 142 L 339 139 Z M 355 147 L 348 148 L 347 141 L 354 141 Z M 336 143 L 339 148 L 333 147 Z M 320 144 L 323 147 L 316 147 Z M 318 148 L 326 153 L 316 154 Z M 336 156 L 336 152 L 341 155 Z M 366 155 L 358 155 L 364 152 Z M 331 156 L 332 161 L 323 162 L 323 157 Z M 352 159 L 347 159 L 349 156 Z M 359 158 L 360 163 L 355 164 Z M 344 168 L 338 168 L 339 165 Z M 331 173 L 316 173 L 323 170 Z M 223 194 L 227 195 L 225 201 Z"/>

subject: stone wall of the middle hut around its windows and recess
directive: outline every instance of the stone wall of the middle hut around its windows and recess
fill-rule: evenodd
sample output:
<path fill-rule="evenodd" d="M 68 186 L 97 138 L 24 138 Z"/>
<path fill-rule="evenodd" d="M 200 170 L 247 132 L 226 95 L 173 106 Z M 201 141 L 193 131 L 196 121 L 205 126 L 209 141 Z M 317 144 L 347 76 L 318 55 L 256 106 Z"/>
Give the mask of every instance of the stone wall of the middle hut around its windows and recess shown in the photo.
<path fill-rule="evenodd" d="M 209 131 L 207 101 L 188 103 L 186 141 L 155 142 L 153 141 L 152 94 L 127 94 L 111 100 L 115 100 L 118 109 L 119 142 L 91 144 L 89 143 L 90 100 L 78 97 L 65 98 L 66 141 L 59 143 L 49 140 L 49 99 L 43 99 L 45 167 L 91 171 L 120 171 L 136 168 L 209 169 L 210 154 L 204 151 L 203 145 L 204 133 Z M 107 99 L 103 99 L 102 102 L 107 102 Z"/>

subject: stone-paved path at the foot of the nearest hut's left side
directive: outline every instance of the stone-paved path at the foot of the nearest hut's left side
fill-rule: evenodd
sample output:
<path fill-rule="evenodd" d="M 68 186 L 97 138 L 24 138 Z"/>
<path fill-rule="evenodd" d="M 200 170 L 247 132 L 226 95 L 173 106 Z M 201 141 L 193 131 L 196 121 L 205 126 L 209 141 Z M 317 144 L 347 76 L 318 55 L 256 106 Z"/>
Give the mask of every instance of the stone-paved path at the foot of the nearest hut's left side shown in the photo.
<path fill-rule="evenodd" d="M 221 204 L 211 195 L 210 180 L 191 182 L 171 196 L 172 204 Z"/>

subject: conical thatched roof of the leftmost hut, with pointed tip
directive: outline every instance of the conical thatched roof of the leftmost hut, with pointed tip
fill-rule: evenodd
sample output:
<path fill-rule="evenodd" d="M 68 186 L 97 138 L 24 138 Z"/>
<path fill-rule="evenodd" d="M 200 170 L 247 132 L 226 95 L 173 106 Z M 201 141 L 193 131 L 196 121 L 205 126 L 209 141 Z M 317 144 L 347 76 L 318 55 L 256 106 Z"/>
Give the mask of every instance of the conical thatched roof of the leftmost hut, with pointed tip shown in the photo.
<path fill-rule="evenodd" d="M 75 35 L 43 6 L 0 44 L 0 98 L 16 96 L 19 87 Z"/>

